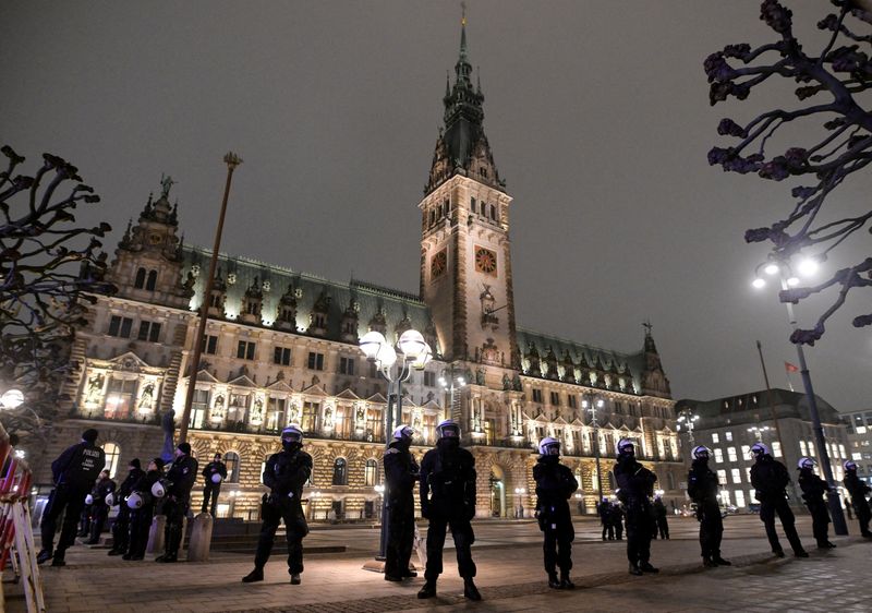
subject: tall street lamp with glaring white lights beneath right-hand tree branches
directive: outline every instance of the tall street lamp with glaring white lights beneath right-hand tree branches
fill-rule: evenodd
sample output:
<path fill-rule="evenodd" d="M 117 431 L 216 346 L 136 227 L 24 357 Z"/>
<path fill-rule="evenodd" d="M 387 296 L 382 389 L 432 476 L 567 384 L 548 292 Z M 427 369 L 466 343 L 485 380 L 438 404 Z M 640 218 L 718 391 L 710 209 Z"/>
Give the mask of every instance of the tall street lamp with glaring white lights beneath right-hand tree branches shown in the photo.
<path fill-rule="evenodd" d="M 799 267 L 800 271 L 807 274 L 814 274 L 816 266 L 816 260 L 809 259 L 800 263 Z M 782 285 L 782 291 L 787 291 L 790 287 L 795 287 L 800 283 L 799 278 L 794 275 L 788 261 L 771 256 L 767 262 L 760 264 L 756 267 L 756 272 L 759 273 L 761 268 L 770 276 L 778 275 Z M 752 285 L 760 289 L 765 287 L 766 281 L 761 275 L 758 274 Z M 787 318 L 790 322 L 790 327 L 796 330 L 799 326 L 797 324 L 794 304 L 789 301 L 785 302 L 784 304 L 787 306 Z M 821 455 L 821 468 L 823 469 L 824 478 L 826 479 L 826 497 L 827 502 L 829 503 L 829 515 L 833 518 L 833 529 L 836 534 L 846 536 L 848 533 L 848 525 L 845 522 L 845 515 L 841 513 L 838 490 L 836 490 L 836 482 L 833 478 L 833 467 L 829 464 L 829 452 L 826 448 L 824 428 L 821 424 L 821 416 L 818 412 L 818 399 L 814 396 L 814 388 L 811 384 L 811 374 L 809 374 L 809 366 L 806 363 L 806 351 L 803 350 L 801 342 L 795 342 L 795 345 L 797 346 L 797 358 L 799 359 L 799 369 L 800 374 L 802 375 L 802 386 L 806 389 L 806 399 L 809 402 L 809 413 L 811 414 L 811 421 L 814 428 L 814 441 L 818 444 L 818 450 Z"/>

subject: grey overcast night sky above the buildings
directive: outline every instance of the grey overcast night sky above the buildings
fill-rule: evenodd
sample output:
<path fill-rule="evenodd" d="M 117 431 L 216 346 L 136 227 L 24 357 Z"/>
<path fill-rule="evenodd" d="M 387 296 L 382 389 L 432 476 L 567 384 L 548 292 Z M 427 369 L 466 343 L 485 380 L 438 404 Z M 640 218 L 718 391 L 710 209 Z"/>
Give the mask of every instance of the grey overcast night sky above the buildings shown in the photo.
<path fill-rule="evenodd" d="M 831 9 L 789 1 L 808 50 Z M 704 58 L 774 34 L 756 0 L 480 1 L 468 7 L 485 132 L 514 197 L 518 324 L 622 352 L 650 318 L 676 398 L 774 386 L 796 363 L 774 289 L 750 287 L 766 247 L 748 228 L 786 215 L 792 183 L 710 167 L 720 118 L 788 99 L 773 84 L 710 107 Z M 161 172 L 186 242 L 211 245 L 228 149 L 222 251 L 336 280 L 417 292 L 422 197 L 453 77 L 459 2 L 3 2 L 0 141 L 78 166 L 114 226 L 111 251 Z M 812 128 L 778 144 L 812 144 Z M 777 143 L 776 143 L 777 144 Z M 828 201 L 865 211 L 870 176 Z M 171 200 L 172 200 L 171 199 Z M 865 250 L 862 249 L 864 241 Z M 868 254 L 858 233 L 827 266 Z M 801 303 L 800 323 L 829 299 Z M 870 312 L 856 292 L 808 353 L 815 390 L 869 408 Z M 794 385 L 801 387 L 799 377 Z"/>

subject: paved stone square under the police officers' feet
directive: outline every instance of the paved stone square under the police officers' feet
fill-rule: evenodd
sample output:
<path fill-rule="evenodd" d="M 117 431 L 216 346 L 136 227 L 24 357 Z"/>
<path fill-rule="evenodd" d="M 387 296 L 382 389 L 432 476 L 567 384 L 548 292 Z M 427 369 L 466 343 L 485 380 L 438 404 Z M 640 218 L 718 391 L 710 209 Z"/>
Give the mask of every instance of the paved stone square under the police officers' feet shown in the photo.
<path fill-rule="evenodd" d="M 73 611 L 299 611 L 301 613 L 364 611 L 870 611 L 872 587 L 865 570 L 872 543 L 856 537 L 834 539 L 831 552 L 813 549 L 810 526 L 800 518 L 800 534 L 812 556 L 776 560 L 756 516 L 731 516 L 726 521 L 724 555 L 736 562 L 729 568 L 703 570 L 695 540 L 698 524 L 678 519 L 673 539 L 652 548 L 659 575 L 627 574 L 621 542 L 602 542 L 593 521 L 577 524 L 572 592 L 549 590 L 542 570 L 540 532 L 531 522 L 474 525 L 473 550 L 479 565 L 476 582 L 483 602 L 465 602 L 452 554 L 446 554 L 446 573 L 439 596 L 420 601 L 415 593 L 423 579 L 389 584 L 362 569 L 376 545 L 373 530 L 318 530 L 306 544 L 344 544 L 344 554 L 306 558 L 303 585 L 290 586 L 281 549 L 267 566 L 266 580 L 240 581 L 252 567 L 250 556 L 215 555 L 208 563 L 158 565 L 122 562 L 105 550 L 76 546 L 68 553 L 69 566 L 46 568 L 43 577 L 49 612 Z M 851 526 L 856 533 L 856 524 Z M 450 544 L 450 536 L 448 543 Z M 786 545 L 786 543 L 785 543 Z M 789 551 L 789 550 L 788 550 Z M 848 589 L 850 587 L 850 589 Z M 5 584 L 7 610 L 24 611 L 17 586 Z M 848 593 L 850 592 L 850 593 Z"/>

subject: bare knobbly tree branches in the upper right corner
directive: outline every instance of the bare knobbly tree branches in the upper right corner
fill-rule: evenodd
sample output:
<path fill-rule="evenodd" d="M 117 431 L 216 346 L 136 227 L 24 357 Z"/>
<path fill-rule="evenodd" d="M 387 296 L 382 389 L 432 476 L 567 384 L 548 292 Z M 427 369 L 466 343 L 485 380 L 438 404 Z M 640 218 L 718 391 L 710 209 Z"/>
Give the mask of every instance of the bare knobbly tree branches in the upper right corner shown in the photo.
<path fill-rule="evenodd" d="M 705 60 L 711 83 L 712 105 L 730 96 L 744 100 L 751 89 L 771 77 L 795 81 L 798 87 L 794 108 L 767 110 L 747 123 L 723 119 L 717 132 L 734 136 L 730 147 L 714 147 L 708 163 L 730 172 L 756 172 L 763 179 L 784 181 L 799 178 L 792 188 L 795 204 L 790 213 L 766 228 L 744 235 L 747 242 L 770 241 L 773 255 L 789 260 L 802 249 L 812 248 L 819 260 L 848 237 L 867 227 L 872 211 L 858 216 L 826 211 L 827 196 L 848 177 L 872 161 L 872 113 L 861 94 L 872 87 L 872 8 L 868 0 L 832 0 L 837 12 L 827 14 L 818 28 L 828 33 L 822 48 L 809 55 L 794 35 L 792 12 L 777 0 L 765 0 L 760 19 L 777 35 L 773 43 L 752 48 L 748 44 L 728 45 Z M 785 105 L 786 106 L 786 105 Z M 806 120 L 823 129 L 809 130 Z M 771 140 L 776 133 L 786 140 L 810 140 L 772 154 Z M 797 329 L 794 342 L 814 345 L 824 334 L 826 320 L 845 302 L 851 289 L 872 286 L 872 257 L 837 271 L 826 281 L 813 287 L 780 292 L 782 302 L 797 303 L 803 298 L 833 288 L 837 295 L 812 329 Z M 853 318 L 857 327 L 872 324 L 872 314 Z"/>

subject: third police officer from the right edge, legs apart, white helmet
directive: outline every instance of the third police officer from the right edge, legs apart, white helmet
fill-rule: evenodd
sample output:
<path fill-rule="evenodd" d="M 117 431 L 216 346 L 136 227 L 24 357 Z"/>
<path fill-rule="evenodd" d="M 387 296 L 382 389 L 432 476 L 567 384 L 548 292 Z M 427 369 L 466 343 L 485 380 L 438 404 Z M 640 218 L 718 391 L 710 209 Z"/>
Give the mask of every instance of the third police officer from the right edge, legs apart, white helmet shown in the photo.
<path fill-rule="evenodd" d="M 802 542 L 797 534 L 794 512 L 787 504 L 785 488 L 790 483 L 787 467 L 770 454 L 768 447 L 763 443 L 754 443 L 751 447 L 754 454 L 754 466 L 751 467 L 751 484 L 754 486 L 754 496 L 760 501 L 760 519 L 766 527 L 766 537 L 770 539 L 772 552 L 778 557 L 784 557 L 784 550 L 775 532 L 775 514 L 782 520 L 782 527 L 796 557 L 808 557 L 802 548 Z"/>

